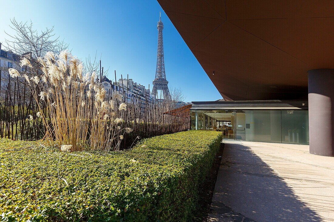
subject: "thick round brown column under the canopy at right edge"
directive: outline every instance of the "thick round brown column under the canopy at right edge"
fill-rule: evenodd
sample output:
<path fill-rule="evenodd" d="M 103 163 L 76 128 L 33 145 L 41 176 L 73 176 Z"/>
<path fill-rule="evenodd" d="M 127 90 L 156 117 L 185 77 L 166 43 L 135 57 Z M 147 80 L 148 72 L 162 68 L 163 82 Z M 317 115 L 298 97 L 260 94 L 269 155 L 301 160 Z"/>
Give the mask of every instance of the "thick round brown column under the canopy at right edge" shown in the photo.
<path fill-rule="evenodd" d="M 334 69 L 308 71 L 310 153 L 334 156 Z"/>

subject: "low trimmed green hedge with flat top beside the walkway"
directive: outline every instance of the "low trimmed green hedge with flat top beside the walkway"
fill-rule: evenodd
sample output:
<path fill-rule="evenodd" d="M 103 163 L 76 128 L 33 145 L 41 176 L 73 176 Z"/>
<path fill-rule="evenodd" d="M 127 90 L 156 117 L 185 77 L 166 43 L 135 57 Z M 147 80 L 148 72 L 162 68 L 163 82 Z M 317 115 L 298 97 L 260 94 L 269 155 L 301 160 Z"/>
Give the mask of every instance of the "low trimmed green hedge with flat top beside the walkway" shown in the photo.
<path fill-rule="evenodd" d="M 127 151 L 0 141 L 1 221 L 189 221 L 221 133 L 186 131 Z"/>

